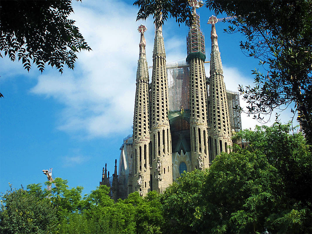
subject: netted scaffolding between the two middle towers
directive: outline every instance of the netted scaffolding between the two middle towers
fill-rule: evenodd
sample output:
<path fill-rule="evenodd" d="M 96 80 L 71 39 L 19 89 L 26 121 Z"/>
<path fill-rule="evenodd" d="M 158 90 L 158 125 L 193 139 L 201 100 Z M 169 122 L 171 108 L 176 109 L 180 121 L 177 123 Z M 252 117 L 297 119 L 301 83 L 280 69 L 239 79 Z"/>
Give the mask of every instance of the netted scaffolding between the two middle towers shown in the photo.
<path fill-rule="evenodd" d="M 169 111 L 176 111 L 190 108 L 189 86 L 190 74 L 189 65 L 186 62 L 166 64 L 168 76 L 168 105 Z"/>

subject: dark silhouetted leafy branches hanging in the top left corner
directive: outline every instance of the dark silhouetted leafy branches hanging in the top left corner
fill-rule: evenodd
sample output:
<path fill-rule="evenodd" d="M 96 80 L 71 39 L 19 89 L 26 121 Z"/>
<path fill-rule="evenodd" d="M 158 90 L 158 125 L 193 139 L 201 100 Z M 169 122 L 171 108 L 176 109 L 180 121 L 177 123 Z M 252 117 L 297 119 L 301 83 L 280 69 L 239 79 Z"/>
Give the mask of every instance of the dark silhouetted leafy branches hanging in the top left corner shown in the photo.
<path fill-rule="evenodd" d="M 76 53 L 91 48 L 75 21 L 68 19 L 71 12 L 71 0 L 2 0 L 0 51 L 12 61 L 22 60 L 27 71 L 31 63 L 41 72 L 46 64 L 55 66 L 61 73 L 65 64 L 74 69 Z"/>

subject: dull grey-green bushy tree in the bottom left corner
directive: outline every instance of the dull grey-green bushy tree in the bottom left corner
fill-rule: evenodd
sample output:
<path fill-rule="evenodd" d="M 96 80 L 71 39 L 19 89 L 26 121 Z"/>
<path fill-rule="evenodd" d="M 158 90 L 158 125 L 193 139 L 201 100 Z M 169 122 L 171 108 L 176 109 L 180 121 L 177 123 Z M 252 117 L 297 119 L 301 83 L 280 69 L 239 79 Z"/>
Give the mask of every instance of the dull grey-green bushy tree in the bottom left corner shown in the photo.
<path fill-rule="evenodd" d="M 54 233 L 56 222 L 56 209 L 48 198 L 38 198 L 22 188 L 2 196 L 1 233 Z"/>

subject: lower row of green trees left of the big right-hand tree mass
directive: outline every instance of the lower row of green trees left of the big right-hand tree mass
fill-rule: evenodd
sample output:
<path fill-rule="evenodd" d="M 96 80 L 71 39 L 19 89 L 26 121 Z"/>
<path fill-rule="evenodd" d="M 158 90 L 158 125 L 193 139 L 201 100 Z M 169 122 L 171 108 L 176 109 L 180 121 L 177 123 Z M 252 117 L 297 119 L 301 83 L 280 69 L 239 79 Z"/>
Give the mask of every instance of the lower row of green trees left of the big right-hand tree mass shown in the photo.
<path fill-rule="evenodd" d="M 46 182 L 51 185 L 51 182 Z M 81 196 L 83 188 L 69 188 L 55 178 L 51 190 L 29 184 L 2 195 L 1 233 L 160 233 L 164 220 L 160 195 L 131 193 L 114 203 L 110 188 L 96 187 Z"/>

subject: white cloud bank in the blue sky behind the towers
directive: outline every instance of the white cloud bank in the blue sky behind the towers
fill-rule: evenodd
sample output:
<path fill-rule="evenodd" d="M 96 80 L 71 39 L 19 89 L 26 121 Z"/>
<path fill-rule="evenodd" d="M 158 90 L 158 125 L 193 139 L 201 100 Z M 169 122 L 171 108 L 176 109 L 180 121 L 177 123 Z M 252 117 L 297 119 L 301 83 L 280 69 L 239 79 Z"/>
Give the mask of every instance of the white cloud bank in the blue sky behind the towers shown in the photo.
<path fill-rule="evenodd" d="M 124 2 L 109 4 L 108 7 L 106 2 L 75 3 L 72 18 L 92 51 L 78 54 L 75 70 L 64 69 L 62 76 L 56 70 L 46 69 L 44 75 L 37 76 L 38 83 L 31 90 L 61 103 L 64 108 L 58 117 L 58 129 L 83 138 L 127 135 L 132 131 L 140 38 L 137 27 L 141 22 L 135 21 L 136 7 Z M 146 54 L 151 66 L 153 20 L 144 24 L 148 28 Z M 167 61 L 185 57 L 185 38 L 171 35 L 165 27 L 163 30 Z M 206 69 L 208 75 L 209 66 Z M 252 82 L 233 67 L 224 66 L 224 77 L 227 89 L 233 91 L 238 83 Z M 241 106 L 246 106 L 246 102 L 240 101 Z M 259 124 L 256 120 L 242 114 L 243 128 L 253 129 L 256 124 Z"/>

